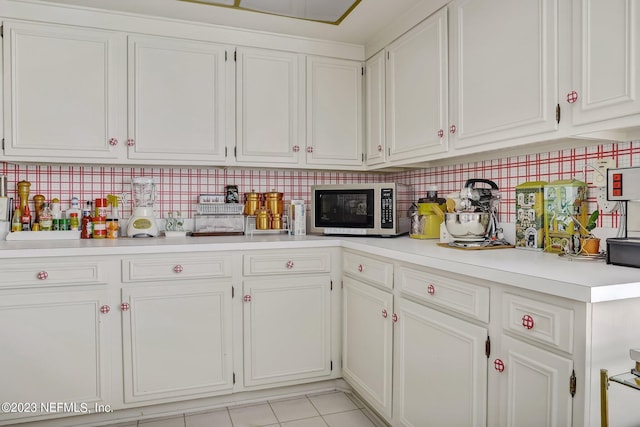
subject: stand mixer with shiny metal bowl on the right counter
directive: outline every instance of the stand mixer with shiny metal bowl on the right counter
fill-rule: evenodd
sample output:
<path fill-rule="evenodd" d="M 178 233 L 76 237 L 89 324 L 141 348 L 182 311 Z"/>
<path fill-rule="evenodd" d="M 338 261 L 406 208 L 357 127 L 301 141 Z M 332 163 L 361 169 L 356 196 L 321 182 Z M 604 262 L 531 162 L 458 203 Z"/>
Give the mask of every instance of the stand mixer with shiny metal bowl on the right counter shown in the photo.
<path fill-rule="evenodd" d="M 476 184 L 490 188 L 476 188 Z M 460 208 L 447 213 L 445 224 L 453 237 L 453 245 L 460 247 L 509 245 L 498 224 L 500 191 L 488 179 L 468 179 L 460 190 Z"/>

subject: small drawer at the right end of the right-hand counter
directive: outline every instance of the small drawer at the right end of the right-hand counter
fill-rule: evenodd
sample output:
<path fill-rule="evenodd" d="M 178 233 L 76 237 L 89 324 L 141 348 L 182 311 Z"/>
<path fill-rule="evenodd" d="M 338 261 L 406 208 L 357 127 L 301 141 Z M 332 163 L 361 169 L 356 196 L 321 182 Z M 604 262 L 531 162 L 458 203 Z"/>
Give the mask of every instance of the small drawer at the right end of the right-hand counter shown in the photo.
<path fill-rule="evenodd" d="M 506 331 L 573 353 L 573 309 L 509 293 L 502 303 Z"/>

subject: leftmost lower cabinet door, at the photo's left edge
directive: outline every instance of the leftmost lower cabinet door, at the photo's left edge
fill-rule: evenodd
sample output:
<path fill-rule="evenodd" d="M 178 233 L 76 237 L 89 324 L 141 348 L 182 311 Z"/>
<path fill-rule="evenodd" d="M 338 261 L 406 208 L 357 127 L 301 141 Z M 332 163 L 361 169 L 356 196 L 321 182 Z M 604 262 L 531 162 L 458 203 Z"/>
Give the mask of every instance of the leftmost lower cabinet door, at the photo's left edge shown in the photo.
<path fill-rule="evenodd" d="M 63 411 L 40 402 L 76 404 L 79 411 L 82 404 L 111 404 L 109 334 L 117 314 L 107 302 L 106 290 L 77 287 L 0 297 L 0 401 L 37 402 L 14 415 Z M 11 417 L 0 414 L 0 423 Z"/>

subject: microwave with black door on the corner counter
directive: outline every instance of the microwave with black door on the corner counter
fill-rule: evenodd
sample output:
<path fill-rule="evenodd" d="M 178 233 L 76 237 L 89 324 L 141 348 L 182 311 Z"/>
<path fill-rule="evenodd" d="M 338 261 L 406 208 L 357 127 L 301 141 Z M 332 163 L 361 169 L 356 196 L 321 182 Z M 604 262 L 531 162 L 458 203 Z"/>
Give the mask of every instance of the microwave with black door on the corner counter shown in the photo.
<path fill-rule="evenodd" d="M 399 183 L 314 185 L 311 233 L 399 236 L 409 232 L 411 186 Z"/>

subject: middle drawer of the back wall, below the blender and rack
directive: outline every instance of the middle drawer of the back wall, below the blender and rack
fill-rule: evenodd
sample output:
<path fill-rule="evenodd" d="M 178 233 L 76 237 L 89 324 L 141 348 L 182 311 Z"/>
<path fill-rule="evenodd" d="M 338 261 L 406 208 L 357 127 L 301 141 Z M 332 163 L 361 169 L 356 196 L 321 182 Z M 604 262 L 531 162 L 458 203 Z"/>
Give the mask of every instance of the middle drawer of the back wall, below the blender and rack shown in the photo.
<path fill-rule="evenodd" d="M 231 257 L 174 254 L 124 259 L 123 282 L 203 279 L 231 276 Z"/>

